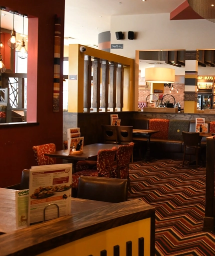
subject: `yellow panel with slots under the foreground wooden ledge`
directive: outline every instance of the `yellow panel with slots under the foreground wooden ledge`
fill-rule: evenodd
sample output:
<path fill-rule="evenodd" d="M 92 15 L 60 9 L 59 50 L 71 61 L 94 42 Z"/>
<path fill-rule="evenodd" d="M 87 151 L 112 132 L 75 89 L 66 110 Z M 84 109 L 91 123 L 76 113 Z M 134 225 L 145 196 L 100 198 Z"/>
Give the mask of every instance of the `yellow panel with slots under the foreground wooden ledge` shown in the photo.
<path fill-rule="evenodd" d="M 100 256 L 106 250 L 113 255 L 113 246 L 119 245 L 120 255 L 126 255 L 126 242 L 132 241 L 132 255 L 138 255 L 138 238 L 144 237 L 144 256 L 150 255 L 150 218 L 108 229 L 55 249 L 38 254 L 39 256 Z"/>

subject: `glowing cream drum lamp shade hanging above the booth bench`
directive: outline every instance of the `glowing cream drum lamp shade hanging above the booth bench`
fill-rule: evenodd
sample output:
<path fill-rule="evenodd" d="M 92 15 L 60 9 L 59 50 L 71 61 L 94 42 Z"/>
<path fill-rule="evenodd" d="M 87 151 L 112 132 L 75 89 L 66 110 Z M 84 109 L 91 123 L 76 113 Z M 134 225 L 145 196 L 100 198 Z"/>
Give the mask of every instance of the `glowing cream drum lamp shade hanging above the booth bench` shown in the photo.
<path fill-rule="evenodd" d="M 174 83 L 175 70 L 172 68 L 146 68 L 145 82 Z"/>

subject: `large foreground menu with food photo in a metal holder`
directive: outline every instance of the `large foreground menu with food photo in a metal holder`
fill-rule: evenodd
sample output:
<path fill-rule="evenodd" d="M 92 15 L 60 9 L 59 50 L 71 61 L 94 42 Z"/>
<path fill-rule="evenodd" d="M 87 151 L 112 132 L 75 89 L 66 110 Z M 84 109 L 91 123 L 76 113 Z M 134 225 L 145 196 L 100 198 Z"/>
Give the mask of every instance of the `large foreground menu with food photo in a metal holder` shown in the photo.
<path fill-rule="evenodd" d="M 28 225 L 70 214 L 71 172 L 72 164 L 31 167 Z"/>

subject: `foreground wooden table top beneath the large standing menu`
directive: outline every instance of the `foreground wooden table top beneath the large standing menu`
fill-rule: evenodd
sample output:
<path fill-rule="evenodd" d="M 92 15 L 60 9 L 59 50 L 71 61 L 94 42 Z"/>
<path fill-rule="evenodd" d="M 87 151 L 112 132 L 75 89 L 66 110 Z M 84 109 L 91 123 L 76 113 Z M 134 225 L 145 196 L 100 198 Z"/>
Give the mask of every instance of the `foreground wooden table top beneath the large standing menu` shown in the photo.
<path fill-rule="evenodd" d="M 17 230 L 15 223 L 15 191 L 0 188 L 0 234 Z M 110 204 L 112 203 L 72 197 L 71 215 Z"/>

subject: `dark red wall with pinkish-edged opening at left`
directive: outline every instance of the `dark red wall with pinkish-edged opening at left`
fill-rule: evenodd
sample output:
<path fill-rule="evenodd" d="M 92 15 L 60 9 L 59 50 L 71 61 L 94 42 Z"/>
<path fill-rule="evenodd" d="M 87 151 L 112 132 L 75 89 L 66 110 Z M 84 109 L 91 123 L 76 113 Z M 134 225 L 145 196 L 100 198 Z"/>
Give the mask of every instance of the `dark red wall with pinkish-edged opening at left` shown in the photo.
<path fill-rule="evenodd" d="M 62 149 L 62 61 L 64 0 L 1 0 L 7 11 L 28 15 L 26 125 L 0 125 L 0 187 L 20 182 L 21 172 L 35 165 L 32 146 L 54 143 Z M 54 15 L 61 17 L 60 109 L 52 111 Z M 32 17 L 32 18 L 31 18 Z M 35 18 L 33 18 L 35 17 Z M 38 30 L 37 30 L 38 28 Z"/>

